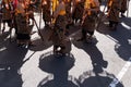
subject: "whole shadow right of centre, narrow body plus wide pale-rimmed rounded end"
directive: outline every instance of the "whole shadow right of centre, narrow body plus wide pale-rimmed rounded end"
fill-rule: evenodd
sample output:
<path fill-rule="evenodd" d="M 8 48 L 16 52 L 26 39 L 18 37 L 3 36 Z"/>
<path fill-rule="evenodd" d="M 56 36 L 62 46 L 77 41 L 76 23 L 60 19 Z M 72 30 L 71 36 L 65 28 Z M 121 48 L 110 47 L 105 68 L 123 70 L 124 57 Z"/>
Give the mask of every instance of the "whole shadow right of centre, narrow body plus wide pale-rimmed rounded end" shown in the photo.
<path fill-rule="evenodd" d="M 104 71 L 104 69 L 107 67 L 108 62 L 104 60 L 103 53 L 98 50 L 96 44 L 96 38 L 93 38 L 92 44 L 73 40 L 75 47 L 83 49 L 90 55 L 93 65 L 93 70 L 80 75 L 80 87 L 109 87 L 111 82 L 116 78 L 115 75 Z M 116 84 L 116 87 L 123 87 L 123 85 L 118 83 Z"/>

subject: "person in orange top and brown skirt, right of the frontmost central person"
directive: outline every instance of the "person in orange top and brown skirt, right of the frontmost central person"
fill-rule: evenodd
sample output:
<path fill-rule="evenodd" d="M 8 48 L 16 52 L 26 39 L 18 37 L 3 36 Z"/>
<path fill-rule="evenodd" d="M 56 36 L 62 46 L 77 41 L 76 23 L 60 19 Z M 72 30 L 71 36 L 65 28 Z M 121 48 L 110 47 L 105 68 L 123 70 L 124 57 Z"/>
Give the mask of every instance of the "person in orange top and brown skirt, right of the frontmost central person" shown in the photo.
<path fill-rule="evenodd" d="M 97 13 L 99 11 L 98 0 L 86 0 L 84 5 L 83 21 L 82 21 L 82 37 L 80 40 L 86 41 L 86 35 L 88 35 L 88 41 L 95 32 L 95 24 L 97 20 Z"/>

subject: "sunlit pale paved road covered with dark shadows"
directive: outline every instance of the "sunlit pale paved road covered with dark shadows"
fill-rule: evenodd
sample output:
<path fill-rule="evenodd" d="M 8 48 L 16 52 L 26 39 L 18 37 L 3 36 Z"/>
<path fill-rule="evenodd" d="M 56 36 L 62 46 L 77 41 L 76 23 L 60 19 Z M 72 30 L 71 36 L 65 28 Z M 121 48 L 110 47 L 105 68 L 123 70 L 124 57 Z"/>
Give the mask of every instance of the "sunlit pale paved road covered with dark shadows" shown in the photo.
<path fill-rule="evenodd" d="M 37 33 L 32 36 L 33 48 L 17 48 L 4 33 L 0 36 L 0 87 L 130 87 L 131 11 L 120 20 L 116 32 L 103 20 L 92 44 L 76 41 L 81 33 L 78 26 L 71 27 L 71 54 L 64 58 L 55 58 L 51 42 L 41 41 Z M 41 33 L 47 39 L 49 30 Z"/>

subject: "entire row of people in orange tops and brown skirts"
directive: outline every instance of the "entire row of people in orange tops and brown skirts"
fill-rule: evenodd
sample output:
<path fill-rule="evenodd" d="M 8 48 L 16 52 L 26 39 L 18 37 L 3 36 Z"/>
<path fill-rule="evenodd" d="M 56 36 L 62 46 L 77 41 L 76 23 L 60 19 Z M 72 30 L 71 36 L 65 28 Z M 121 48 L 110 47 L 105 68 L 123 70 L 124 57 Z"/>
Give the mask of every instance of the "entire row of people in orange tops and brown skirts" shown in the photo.
<path fill-rule="evenodd" d="M 8 23 L 10 32 L 15 28 L 19 45 L 32 45 L 31 33 L 34 23 L 34 4 L 37 0 L 2 0 L 1 15 L 4 24 Z M 50 26 L 52 33 L 49 37 L 53 44 L 53 53 L 64 53 L 67 34 L 70 25 L 79 23 L 82 27 L 82 38 L 92 39 L 96 29 L 100 4 L 103 0 L 40 0 L 39 12 L 43 14 L 45 26 Z M 123 16 L 127 10 L 127 0 L 106 0 L 109 27 L 117 29 L 119 13 Z M 122 5 L 122 7 L 121 7 Z M 53 26 L 52 26 L 53 25 Z M 60 48 L 60 50 L 58 50 Z"/>

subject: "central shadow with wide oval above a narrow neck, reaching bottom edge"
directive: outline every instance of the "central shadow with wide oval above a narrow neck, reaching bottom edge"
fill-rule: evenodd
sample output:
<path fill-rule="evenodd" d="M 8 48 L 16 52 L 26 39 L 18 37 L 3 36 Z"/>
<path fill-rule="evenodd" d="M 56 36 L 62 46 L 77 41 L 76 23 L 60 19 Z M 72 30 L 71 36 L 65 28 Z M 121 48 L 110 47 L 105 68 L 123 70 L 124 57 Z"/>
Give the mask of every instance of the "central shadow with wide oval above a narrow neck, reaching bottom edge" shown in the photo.
<path fill-rule="evenodd" d="M 69 70 L 74 65 L 73 54 L 56 57 L 51 52 L 39 58 L 39 69 L 52 74 L 52 78 L 47 76 L 37 87 L 78 87 L 69 79 Z"/>

